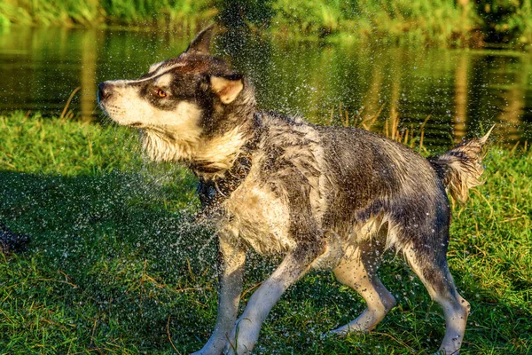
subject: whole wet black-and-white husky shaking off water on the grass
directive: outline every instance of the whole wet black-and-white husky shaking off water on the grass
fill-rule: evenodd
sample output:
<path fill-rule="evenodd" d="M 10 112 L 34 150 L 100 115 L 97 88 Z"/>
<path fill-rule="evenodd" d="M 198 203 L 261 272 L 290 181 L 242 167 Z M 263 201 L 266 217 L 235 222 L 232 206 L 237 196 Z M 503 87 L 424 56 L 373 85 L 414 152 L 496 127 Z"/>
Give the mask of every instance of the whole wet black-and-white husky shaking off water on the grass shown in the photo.
<path fill-rule="evenodd" d="M 403 255 L 445 316 L 440 353 L 456 354 L 469 304 L 447 264 L 450 200 L 481 185 L 483 138 L 426 159 L 366 130 L 325 127 L 260 111 L 244 75 L 209 51 L 214 25 L 186 51 L 134 80 L 99 83 L 98 102 L 141 132 L 156 162 L 184 163 L 215 221 L 215 329 L 194 354 L 247 354 L 262 322 L 296 280 L 332 270 L 367 308 L 332 335 L 369 332 L 395 306 L 377 275 L 387 249 Z M 237 319 L 246 249 L 282 255 Z"/>

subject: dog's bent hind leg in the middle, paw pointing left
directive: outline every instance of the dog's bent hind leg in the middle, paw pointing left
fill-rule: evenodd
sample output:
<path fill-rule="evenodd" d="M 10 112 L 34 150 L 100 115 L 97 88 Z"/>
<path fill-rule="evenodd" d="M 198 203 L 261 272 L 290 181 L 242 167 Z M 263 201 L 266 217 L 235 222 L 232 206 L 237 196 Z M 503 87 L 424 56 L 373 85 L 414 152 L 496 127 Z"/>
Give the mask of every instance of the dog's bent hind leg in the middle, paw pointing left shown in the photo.
<path fill-rule="evenodd" d="M 344 256 L 334 269 L 336 279 L 353 288 L 367 304 L 355 320 L 334 329 L 331 334 L 347 335 L 349 332 L 367 332 L 379 324 L 387 312 L 395 306 L 395 297 L 384 287 L 377 276 L 384 243 L 375 240 L 361 241 L 354 251 Z"/>

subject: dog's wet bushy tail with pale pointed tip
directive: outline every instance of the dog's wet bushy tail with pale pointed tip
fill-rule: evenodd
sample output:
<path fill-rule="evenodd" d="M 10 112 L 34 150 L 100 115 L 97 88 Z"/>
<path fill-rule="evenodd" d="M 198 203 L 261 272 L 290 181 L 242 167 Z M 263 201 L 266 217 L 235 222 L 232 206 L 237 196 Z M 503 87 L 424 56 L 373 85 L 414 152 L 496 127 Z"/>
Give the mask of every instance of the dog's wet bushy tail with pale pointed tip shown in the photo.
<path fill-rule="evenodd" d="M 494 127 L 482 138 L 465 141 L 446 153 L 428 158 L 455 201 L 465 202 L 469 189 L 483 184 L 479 180 L 484 172 L 481 161 L 485 154 L 482 153 L 482 147 Z"/>

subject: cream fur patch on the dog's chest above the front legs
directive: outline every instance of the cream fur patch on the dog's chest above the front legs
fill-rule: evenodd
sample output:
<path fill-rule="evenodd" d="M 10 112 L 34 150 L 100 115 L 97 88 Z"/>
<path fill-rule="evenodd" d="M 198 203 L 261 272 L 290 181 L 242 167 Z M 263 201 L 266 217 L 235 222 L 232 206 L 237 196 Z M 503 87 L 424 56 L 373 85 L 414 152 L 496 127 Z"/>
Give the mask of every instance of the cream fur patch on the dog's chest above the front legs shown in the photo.
<path fill-rule="evenodd" d="M 260 254 L 270 254 L 293 248 L 295 242 L 288 233 L 288 204 L 261 185 L 254 172 L 223 202 L 226 217 L 222 229 L 254 248 Z"/>

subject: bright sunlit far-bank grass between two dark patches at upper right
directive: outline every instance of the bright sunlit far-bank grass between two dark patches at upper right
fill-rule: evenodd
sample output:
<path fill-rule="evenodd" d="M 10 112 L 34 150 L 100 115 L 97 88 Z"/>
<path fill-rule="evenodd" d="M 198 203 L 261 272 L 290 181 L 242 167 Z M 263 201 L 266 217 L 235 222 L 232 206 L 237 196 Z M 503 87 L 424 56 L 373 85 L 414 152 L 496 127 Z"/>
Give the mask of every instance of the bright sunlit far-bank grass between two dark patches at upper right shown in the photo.
<path fill-rule="evenodd" d="M 474 16 L 454 1 L 314 1 L 278 0 L 274 27 L 306 36 L 340 33 L 387 36 L 394 42 L 450 43 L 468 36 Z"/>

